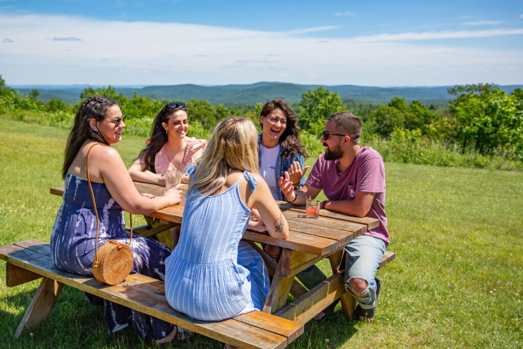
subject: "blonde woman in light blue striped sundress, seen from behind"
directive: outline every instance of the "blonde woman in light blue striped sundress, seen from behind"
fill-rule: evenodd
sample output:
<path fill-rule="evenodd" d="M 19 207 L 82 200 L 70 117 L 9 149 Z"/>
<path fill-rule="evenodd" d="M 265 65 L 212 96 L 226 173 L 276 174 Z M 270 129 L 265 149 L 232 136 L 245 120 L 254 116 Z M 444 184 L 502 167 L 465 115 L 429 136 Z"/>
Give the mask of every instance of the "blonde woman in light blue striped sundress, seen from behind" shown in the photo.
<path fill-rule="evenodd" d="M 187 171 L 192 181 L 180 240 L 165 261 L 165 296 L 192 318 L 223 320 L 263 308 L 267 269 L 240 239 L 254 205 L 273 237 L 286 239 L 289 227 L 258 173 L 257 139 L 251 120 L 226 118 Z"/>

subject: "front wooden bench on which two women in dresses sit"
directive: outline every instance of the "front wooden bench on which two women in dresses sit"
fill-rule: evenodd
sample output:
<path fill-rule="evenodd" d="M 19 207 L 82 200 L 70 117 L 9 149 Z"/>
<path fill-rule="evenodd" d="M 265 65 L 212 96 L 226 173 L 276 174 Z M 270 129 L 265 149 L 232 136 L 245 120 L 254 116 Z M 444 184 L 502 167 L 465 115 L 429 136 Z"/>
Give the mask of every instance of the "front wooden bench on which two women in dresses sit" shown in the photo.
<path fill-rule="evenodd" d="M 236 347 L 285 348 L 303 333 L 302 324 L 260 311 L 223 321 L 191 319 L 169 306 L 162 281 L 131 274 L 124 282 L 109 286 L 93 277 L 67 273 L 54 265 L 49 244 L 38 240 L 31 239 L 1 246 L 0 258 L 7 262 L 6 283 L 9 287 L 43 277 L 15 332 L 15 338 L 25 328 L 32 328 L 47 319 L 63 285 L 72 286 Z"/>

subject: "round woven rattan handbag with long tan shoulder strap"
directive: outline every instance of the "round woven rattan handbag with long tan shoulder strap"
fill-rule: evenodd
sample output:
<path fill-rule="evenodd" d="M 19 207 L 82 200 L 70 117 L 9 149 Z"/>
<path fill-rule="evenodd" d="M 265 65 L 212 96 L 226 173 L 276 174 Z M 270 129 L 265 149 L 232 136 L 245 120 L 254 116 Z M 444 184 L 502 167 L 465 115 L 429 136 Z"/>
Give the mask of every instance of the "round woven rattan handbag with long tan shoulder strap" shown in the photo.
<path fill-rule="evenodd" d="M 116 285 L 121 283 L 131 273 L 132 265 L 134 262 L 134 256 L 131 250 L 132 241 L 132 217 L 129 214 L 129 220 L 131 223 L 131 237 L 129 239 L 129 245 L 121 243 L 116 240 L 109 240 L 105 244 L 101 245 L 98 250 L 98 211 L 96 209 L 95 195 L 93 194 L 93 187 L 91 186 L 91 179 L 89 177 L 89 153 L 91 149 L 97 144 L 104 145 L 102 143 L 95 143 L 91 145 L 87 152 L 87 182 L 89 183 L 89 190 L 91 197 L 93 198 L 93 206 L 96 215 L 96 240 L 95 240 L 95 258 L 93 260 L 93 275 L 94 277 L 103 283 L 109 285 Z"/>

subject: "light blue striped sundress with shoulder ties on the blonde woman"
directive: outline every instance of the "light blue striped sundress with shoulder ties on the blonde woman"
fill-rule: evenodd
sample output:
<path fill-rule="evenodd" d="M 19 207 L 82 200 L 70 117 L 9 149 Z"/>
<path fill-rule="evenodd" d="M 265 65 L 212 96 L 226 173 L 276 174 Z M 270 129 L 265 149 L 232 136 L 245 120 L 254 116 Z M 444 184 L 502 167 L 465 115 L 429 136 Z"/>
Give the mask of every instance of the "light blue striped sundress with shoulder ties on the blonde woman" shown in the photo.
<path fill-rule="evenodd" d="M 194 172 L 194 167 L 188 170 Z M 260 255 L 240 241 L 249 221 L 238 184 L 203 197 L 187 195 L 178 245 L 165 260 L 165 296 L 170 306 L 191 318 L 218 321 L 263 309 L 269 275 Z"/>

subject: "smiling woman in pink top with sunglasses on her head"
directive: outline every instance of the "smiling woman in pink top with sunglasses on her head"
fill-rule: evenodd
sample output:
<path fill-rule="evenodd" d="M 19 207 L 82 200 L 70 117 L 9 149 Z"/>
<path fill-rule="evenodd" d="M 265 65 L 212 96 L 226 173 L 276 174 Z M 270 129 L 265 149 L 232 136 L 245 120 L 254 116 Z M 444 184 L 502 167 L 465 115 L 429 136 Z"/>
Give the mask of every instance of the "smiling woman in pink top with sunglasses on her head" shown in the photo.
<path fill-rule="evenodd" d="M 154 120 L 149 143 L 129 167 L 133 181 L 165 185 L 167 170 L 184 171 L 207 147 L 207 141 L 187 137 L 187 107 L 185 103 L 167 103 Z"/>

